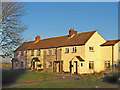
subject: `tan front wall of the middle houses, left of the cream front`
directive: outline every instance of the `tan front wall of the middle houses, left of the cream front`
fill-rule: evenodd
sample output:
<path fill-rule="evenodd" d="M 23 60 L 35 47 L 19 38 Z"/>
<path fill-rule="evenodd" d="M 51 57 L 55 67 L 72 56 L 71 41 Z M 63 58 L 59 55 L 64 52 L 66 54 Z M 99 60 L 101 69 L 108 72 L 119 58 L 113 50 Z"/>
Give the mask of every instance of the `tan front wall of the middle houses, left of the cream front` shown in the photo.
<path fill-rule="evenodd" d="M 57 48 L 57 52 L 56 52 L 57 56 L 56 54 L 55 55 L 52 54 L 53 49 L 56 49 L 56 48 L 49 48 L 50 55 L 47 55 L 48 49 L 41 49 L 40 56 L 37 56 L 37 50 L 34 50 L 34 56 L 31 56 L 31 50 L 28 50 L 28 53 L 27 53 L 28 65 L 27 66 L 31 68 L 31 60 L 37 57 L 41 61 L 41 64 L 42 64 L 41 69 L 44 68 L 44 71 L 53 72 L 53 62 L 61 60 L 61 49 Z M 50 63 L 50 62 L 52 63 L 52 67 L 46 68 L 46 63 Z M 37 69 L 38 67 L 35 67 L 35 68 Z"/>

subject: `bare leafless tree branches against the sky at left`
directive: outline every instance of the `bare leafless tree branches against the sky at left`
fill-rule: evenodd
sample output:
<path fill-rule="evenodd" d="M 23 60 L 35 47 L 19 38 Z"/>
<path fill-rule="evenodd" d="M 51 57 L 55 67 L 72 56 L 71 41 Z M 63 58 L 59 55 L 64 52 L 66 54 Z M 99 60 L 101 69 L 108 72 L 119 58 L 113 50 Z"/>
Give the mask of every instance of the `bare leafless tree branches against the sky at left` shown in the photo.
<path fill-rule="evenodd" d="M 5 55 L 11 55 L 23 40 L 22 33 L 26 26 L 21 22 L 21 16 L 25 14 L 25 8 L 20 2 L 2 2 L 1 8 L 1 50 Z"/>

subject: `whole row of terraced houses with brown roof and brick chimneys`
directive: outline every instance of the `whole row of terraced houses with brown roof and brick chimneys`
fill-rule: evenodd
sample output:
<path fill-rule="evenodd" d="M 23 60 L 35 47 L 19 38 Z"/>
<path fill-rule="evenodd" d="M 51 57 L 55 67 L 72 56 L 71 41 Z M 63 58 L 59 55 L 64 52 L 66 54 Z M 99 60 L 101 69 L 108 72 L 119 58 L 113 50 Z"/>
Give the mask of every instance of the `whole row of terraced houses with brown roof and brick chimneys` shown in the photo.
<path fill-rule="evenodd" d="M 13 69 L 85 74 L 116 67 L 120 62 L 120 40 L 105 40 L 97 31 L 24 42 L 14 53 Z"/>

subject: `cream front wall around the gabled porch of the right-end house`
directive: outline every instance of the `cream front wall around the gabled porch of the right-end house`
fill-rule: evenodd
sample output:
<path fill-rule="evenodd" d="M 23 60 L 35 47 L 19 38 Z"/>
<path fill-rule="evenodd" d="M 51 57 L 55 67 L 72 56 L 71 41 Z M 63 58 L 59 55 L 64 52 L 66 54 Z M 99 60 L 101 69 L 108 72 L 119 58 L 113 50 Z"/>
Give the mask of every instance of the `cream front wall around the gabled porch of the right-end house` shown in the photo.
<path fill-rule="evenodd" d="M 63 60 L 63 71 L 70 72 L 70 61 L 75 56 L 80 56 L 81 58 L 85 59 L 85 46 L 75 46 L 77 48 L 77 52 L 73 53 L 74 46 L 62 47 L 62 58 Z M 65 53 L 65 48 L 69 48 L 69 53 Z"/>

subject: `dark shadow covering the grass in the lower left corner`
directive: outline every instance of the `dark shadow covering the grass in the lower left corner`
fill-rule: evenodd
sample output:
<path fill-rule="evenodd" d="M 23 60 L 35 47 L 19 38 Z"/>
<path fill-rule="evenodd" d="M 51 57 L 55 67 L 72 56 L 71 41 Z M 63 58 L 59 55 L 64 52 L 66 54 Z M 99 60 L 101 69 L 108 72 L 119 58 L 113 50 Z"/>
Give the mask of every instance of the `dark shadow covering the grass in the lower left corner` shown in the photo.
<path fill-rule="evenodd" d="M 2 85 L 5 86 L 5 85 L 14 83 L 20 75 L 25 74 L 25 71 L 26 71 L 25 69 L 16 69 L 16 70 L 3 69 L 2 70 Z"/>

